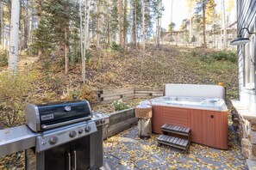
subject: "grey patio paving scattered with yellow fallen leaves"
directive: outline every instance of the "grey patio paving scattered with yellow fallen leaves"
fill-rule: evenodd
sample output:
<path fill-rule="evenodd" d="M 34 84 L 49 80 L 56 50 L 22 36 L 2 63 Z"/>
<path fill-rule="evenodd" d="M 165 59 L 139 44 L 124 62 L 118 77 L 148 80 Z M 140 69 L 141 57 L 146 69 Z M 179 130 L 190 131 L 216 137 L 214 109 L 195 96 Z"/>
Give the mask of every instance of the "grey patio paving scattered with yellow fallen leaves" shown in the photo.
<path fill-rule="evenodd" d="M 137 126 L 109 137 L 103 143 L 105 169 L 247 169 L 246 159 L 240 153 L 239 142 L 231 125 L 229 149 L 213 149 L 191 143 L 184 154 L 172 147 L 159 147 L 157 135 L 149 140 L 138 137 Z"/>

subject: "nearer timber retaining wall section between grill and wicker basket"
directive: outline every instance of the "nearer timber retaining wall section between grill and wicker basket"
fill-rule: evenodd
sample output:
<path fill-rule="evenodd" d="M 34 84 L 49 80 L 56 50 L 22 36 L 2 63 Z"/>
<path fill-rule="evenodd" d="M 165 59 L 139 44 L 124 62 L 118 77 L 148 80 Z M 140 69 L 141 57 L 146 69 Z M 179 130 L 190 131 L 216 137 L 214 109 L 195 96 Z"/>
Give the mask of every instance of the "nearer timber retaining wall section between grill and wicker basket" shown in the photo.
<path fill-rule="evenodd" d="M 135 109 L 129 108 L 123 111 L 109 113 L 109 124 L 103 127 L 103 138 L 112 137 L 121 131 L 137 124 Z"/>

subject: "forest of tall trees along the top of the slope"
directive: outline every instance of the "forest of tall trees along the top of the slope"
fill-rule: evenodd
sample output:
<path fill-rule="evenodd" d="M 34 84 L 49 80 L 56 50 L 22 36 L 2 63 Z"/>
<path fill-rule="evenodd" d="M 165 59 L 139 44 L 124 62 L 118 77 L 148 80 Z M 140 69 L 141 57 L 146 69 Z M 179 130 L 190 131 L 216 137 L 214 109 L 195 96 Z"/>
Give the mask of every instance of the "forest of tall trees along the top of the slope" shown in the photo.
<path fill-rule="evenodd" d="M 15 1 L 14 1 L 15 2 Z M 190 45 L 211 44 L 221 37 L 227 48 L 227 27 L 230 24 L 234 0 L 222 0 L 222 13 L 216 12 L 215 0 L 186 0 L 190 18 L 178 30 Z M 21 0 L 19 50 L 38 55 L 41 60 L 59 59 L 68 74 L 70 63 L 82 63 L 85 80 L 85 60 L 91 50 L 111 47 L 124 52 L 142 43 L 159 46 L 161 37 L 170 33 L 172 42 L 175 23 L 170 18 L 168 30 L 161 27 L 164 10 L 162 0 Z M 172 14 L 173 15 L 173 14 Z M 9 51 L 11 0 L 0 2 L 1 47 Z M 207 41 L 206 39 L 211 40 Z M 2 52 L 3 53 L 3 52 Z M 5 56 L 5 59 L 8 58 Z M 4 55 L 2 55 L 2 65 Z M 5 62 L 6 63 L 6 62 Z"/>

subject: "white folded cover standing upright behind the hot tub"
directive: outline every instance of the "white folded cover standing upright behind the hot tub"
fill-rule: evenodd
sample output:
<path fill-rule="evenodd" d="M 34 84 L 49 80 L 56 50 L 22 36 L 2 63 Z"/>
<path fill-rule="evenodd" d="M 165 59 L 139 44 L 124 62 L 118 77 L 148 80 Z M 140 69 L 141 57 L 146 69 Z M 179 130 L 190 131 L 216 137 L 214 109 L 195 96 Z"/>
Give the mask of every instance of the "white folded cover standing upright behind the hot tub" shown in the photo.
<path fill-rule="evenodd" d="M 222 98 L 225 100 L 225 88 L 219 85 L 165 84 L 165 96 Z"/>

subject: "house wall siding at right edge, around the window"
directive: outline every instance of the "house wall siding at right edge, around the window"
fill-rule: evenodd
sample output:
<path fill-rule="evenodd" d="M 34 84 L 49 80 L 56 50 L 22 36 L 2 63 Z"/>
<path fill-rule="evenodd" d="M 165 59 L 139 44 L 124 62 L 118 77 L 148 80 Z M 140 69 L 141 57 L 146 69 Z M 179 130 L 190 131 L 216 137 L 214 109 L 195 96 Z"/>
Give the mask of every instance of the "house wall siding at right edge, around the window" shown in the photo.
<path fill-rule="evenodd" d="M 251 32 L 255 30 L 255 17 L 256 17 L 256 1 L 255 0 L 237 0 L 237 31 L 239 34 L 240 28 L 248 27 Z M 246 30 L 242 32 L 242 37 L 252 38 L 252 35 L 247 33 Z M 255 39 L 254 39 L 255 41 Z M 253 47 L 253 53 L 255 54 L 255 46 Z M 254 86 L 248 88 L 245 83 L 245 47 L 238 46 L 238 82 L 239 82 L 239 100 L 243 103 L 247 103 L 252 112 L 256 114 L 256 95 Z M 253 55 L 253 61 L 255 62 L 255 55 Z M 253 64 L 253 63 L 252 63 Z M 255 77 L 255 66 L 253 70 Z M 254 78 L 255 82 L 256 78 Z M 256 84 L 256 83 L 254 83 Z"/>

